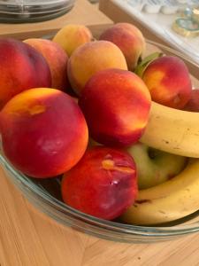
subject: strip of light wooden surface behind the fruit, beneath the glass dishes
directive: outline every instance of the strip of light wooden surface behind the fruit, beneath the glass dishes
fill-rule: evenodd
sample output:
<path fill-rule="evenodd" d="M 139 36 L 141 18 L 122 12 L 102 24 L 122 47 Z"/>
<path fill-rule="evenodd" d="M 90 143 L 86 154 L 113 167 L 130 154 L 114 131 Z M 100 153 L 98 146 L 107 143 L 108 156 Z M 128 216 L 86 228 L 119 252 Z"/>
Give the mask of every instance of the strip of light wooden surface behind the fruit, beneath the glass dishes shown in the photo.
<path fill-rule="evenodd" d="M 36 23 L 3 24 L 0 23 L 0 37 L 40 37 L 45 34 L 57 32 L 57 29 L 66 24 L 97 25 L 112 23 L 112 20 L 97 10 L 96 4 L 90 4 L 88 0 L 76 0 L 71 12 L 54 20 Z"/>

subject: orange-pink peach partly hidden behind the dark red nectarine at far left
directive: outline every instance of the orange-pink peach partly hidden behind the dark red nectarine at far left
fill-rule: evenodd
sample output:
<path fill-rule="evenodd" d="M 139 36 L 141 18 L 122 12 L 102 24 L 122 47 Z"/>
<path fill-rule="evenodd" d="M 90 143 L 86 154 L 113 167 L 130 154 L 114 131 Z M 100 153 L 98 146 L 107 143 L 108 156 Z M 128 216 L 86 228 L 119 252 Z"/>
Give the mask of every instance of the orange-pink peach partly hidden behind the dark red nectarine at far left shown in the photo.
<path fill-rule="evenodd" d="M 27 39 L 24 43 L 28 43 L 35 50 L 42 53 L 50 67 L 51 87 L 58 90 L 65 90 L 69 87 L 67 79 L 67 61 L 68 56 L 65 51 L 57 43 L 50 40 L 39 38 Z"/>

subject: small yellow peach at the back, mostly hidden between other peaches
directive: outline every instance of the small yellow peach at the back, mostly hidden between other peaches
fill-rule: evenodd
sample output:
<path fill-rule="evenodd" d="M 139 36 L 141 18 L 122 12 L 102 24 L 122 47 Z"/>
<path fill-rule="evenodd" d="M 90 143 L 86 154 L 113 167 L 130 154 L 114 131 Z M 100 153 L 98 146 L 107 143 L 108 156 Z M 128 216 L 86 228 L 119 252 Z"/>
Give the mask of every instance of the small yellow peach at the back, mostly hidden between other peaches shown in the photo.
<path fill-rule="evenodd" d="M 62 27 L 53 38 L 70 57 L 80 45 L 91 42 L 93 35 L 84 25 L 69 24 Z"/>

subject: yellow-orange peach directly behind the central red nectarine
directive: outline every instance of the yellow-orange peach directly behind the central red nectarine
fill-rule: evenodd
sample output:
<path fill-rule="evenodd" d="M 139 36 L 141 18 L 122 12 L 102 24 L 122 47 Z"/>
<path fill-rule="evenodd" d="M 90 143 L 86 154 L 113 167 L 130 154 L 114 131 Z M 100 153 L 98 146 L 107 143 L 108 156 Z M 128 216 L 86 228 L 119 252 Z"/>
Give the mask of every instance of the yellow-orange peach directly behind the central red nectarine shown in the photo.
<path fill-rule="evenodd" d="M 73 90 L 80 95 L 93 74 L 108 68 L 127 69 L 126 59 L 118 46 L 107 41 L 81 45 L 68 61 L 68 78 Z"/>

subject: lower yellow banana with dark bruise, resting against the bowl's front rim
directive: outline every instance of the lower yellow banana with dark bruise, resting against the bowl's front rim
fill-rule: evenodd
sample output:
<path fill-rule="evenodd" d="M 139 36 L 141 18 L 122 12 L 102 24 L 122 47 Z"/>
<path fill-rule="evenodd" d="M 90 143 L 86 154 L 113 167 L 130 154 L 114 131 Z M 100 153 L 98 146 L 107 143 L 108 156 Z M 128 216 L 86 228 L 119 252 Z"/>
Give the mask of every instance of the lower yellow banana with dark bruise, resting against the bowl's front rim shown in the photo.
<path fill-rule="evenodd" d="M 199 209 L 199 159 L 189 160 L 178 176 L 139 192 L 134 205 L 121 216 L 126 223 L 171 222 Z"/>

